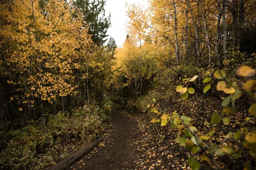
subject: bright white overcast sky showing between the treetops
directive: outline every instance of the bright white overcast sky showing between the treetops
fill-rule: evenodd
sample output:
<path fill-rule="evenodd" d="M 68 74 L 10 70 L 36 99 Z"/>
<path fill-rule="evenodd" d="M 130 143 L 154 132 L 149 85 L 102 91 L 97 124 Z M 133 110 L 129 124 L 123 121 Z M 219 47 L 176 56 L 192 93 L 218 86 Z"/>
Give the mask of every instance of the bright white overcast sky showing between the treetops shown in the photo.
<path fill-rule="evenodd" d="M 115 39 L 118 47 L 122 47 L 127 35 L 125 25 L 128 17 L 126 17 L 127 8 L 125 3 L 136 3 L 141 6 L 147 6 L 148 4 L 147 0 L 106 0 L 105 15 L 108 16 L 111 13 L 111 27 L 108 28 L 107 34 Z"/>

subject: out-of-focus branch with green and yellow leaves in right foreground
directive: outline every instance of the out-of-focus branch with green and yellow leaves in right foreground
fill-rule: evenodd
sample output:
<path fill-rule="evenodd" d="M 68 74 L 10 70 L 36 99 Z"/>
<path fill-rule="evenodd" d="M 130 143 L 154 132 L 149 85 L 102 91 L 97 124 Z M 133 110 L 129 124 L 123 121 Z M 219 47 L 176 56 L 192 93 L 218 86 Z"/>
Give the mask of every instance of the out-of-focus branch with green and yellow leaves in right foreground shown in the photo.
<path fill-rule="evenodd" d="M 255 69 L 249 66 L 241 66 L 237 70 L 237 75 L 241 77 L 253 77 L 255 75 Z M 192 79 L 187 79 L 185 82 L 185 87 L 178 85 L 176 91 L 180 93 L 180 96 L 183 100 L 189 97 L 189 94 L 194 94 L 195 89 L 189 87 L 190 82 L 194 82 L 199 76 L 196 75 Z M 232 115 L 235 114 L 233 108 L 235 107 L 235 101 L 241 96 L 249 94 L 251 100 L 249 101 L 250 107 L 248 109 L 249 116 L 241 118 L 243 122 L 240 125 L 240 128 L 236 131 L 230 131 L 224 136 L 224 139 L 217 139 L 219 143 L 215 143 L 212 139 L 215 139 L 213 135 L 218 133 L 215 131 L 216 128 L 212 128 L 209 132 L 205 132 L 205 135 L 198 132 L 197 127 L 191 125 L 192 119 L 185 115 L 179 115 L 177 111 L 173 113 L 166 113 L 166 111 L 160 110 L 159 105 L 154 107 L 154 104 L 151 106 L 151 112 L 157 113 L 157 116 L 154 117 L 151 122 L 161 122 L 161 126 L 166 126 L 168 122 L 171 124 L 171 129 L 178 129 L 176 142 L 180 146 L 185 146 L 186 149 L 191 150 L 192 153 L 202 153 L 200 159 L 202 162 L 207 162 L 212 169 L 220 170 L 224 168 L 218 157 L 227 155 L 232 159 L 244 159 L 244 167 L 247 170 L 252 169 L 250 159 L 255 159 L 256 157 L 256 130 L 250 130 L 250 126 L 247 125 L 251 120 L 255 120 L 256 116 L 256 98 L 253 91 L 256 90 L 256 80 L 250 79 L 247 82 L 242 82 L 235 77 L 228 78 L 226 73 L 223 70 L 217 70 L 214 72 L 213 77 L 218 79 L 216 90 L 223 91 L 224 94 L 229 96 L 223 98 L 222 106 L 225 108 L 222 110 L 221 115 L 218 113 L 212 114 L 211 123 L 216 126 L 221 122 L 224 125 L 229 125 Z M 205 85 L 203 93 L 206 94 L 207 91 L 211 88 L 210 81 L 211 77 L 204 79 L 203 83 L 209 83 Z M 230 81 L 231 80 L 231 81 Z M 156 99 L 153 99 L 153 102 L 156 102 Z M 232 103 L 232 107 L 228 105 Z M 253 103 L 254 102 L 254 103 Z M 148 108 L 150 105 L 148 105 Z M 233 143 L 236 143 L 233 144 Z M 251 158 L 248 157 L 249 150 Z M 200 163 L 197 159 L 190 156 L 188 158 L 189 166 L 192 170 L 199 170 Z M 234 165 L 234 167 L 236 164 Z"/>

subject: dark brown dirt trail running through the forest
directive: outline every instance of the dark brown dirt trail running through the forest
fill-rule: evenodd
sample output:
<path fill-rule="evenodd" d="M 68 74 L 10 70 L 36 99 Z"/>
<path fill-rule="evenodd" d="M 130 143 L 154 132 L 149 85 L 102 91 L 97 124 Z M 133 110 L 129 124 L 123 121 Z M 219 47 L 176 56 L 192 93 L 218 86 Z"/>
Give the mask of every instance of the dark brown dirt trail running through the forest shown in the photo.
<path fill-rule="evenodd" d="M 137 159 L 137 122 L 124 113 L 110 114 L 113 127 L 105 142 L 105 147 L 96 147 L 93 152 L 76 161 L 71 170 L 134 170 Z"/>

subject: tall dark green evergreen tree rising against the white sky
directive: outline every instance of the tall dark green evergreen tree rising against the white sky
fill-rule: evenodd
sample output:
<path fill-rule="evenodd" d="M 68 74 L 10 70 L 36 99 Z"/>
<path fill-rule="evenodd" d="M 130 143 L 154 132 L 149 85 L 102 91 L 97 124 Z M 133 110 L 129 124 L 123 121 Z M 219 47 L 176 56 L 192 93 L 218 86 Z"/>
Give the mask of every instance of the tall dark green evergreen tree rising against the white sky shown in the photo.
<path fill-rule="evenodd" d="M 105 17 L 105 3 L 105 0 L 76 0 L 74 2 L 76 11 L 82 11 L 84 15 L 84 23 L 89 24 L 88 33 L 96 45 L 106 42 L 107 30 L 111 26 L 111 14 Z"/>

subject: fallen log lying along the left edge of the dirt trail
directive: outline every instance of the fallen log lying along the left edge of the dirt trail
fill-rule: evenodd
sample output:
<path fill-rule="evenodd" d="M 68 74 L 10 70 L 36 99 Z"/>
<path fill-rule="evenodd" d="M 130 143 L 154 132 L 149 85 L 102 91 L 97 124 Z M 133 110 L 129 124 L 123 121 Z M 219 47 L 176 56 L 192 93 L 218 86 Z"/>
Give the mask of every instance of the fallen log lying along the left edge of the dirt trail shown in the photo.
<path fill-rule="evenodd" d="M 92 150 L 99 142 L 104 141 L 104 137 L 100 137 L 99 139 L 94 140 L 89 145 L 82 147 L 79 151 L 76 153 L 73 153 L 70 156 L 67 156 L 63 161 L 59 162 L 58 164 L 55 164 L 54 167 L 52 167 L 50 170 L 65 170 L 67 167 L 72 165 L 76 160 L 79 158 L 85 156 L 86 153 L 88 153 L 90 150 Z"/>

